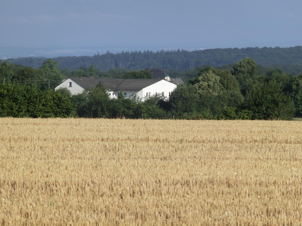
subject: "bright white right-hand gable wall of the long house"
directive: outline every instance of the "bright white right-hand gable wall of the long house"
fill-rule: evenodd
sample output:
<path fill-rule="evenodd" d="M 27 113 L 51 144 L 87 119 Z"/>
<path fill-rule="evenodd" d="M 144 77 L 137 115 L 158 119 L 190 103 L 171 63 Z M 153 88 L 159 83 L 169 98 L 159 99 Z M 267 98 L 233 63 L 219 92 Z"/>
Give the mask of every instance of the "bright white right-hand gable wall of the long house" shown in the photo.
<path fill-rule="evenodd" d="M 166 80 L 160 80 L 157 83 L 154 83 L 150 86 L 147 86 L 145 88 L 143 88 L 142 90 L 140 90 L 137 94 L 140 98 L 143 98 L 143 100 L 147 97 L 147 93 L 148 93 L 148 97 L 149 97 L 149 93 L 150 96 L 158 93 L 158 94 L 162 94 L 162 92 L 164 93 L 164 96 L 166 98 L 169 99 L 169 93 L 172 93 L 172 91 L 177 87 L 177 85 L 168 82 Z"/>

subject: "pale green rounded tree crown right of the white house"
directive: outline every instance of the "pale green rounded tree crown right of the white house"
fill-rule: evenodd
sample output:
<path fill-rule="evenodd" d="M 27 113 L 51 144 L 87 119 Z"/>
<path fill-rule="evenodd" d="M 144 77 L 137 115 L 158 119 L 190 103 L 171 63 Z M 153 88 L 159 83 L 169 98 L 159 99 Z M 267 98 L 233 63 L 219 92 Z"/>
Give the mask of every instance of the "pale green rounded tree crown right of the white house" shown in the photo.
<path fill-rule="evenodd" d="M 205 71 L 197 77 L 197 83 L 194 84 L 199 94 L 211 93 L 218 95 L 222 90 L 222 85 L 219 83 L 219 76 L 213 71 Z"/>

